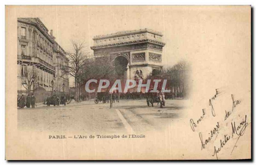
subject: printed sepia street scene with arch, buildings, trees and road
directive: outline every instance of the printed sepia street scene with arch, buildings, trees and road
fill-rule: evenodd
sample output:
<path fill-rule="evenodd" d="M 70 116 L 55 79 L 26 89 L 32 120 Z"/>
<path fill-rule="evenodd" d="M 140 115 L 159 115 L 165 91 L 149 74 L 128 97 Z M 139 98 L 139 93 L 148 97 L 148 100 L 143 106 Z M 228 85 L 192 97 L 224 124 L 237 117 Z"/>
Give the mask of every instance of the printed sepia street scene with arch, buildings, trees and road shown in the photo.
<path fill-rule="evenodd" d="M 71 38 L 65 51 L 40 18 L 18 18 L 17 24 L 20 130 L 143 132 L 182 117 L 189 64 L 162 60 L 161 32 L 144 28 L 96 35 L 92 51 Z M 99 82 L 87 83 L 92 79 Z"/>

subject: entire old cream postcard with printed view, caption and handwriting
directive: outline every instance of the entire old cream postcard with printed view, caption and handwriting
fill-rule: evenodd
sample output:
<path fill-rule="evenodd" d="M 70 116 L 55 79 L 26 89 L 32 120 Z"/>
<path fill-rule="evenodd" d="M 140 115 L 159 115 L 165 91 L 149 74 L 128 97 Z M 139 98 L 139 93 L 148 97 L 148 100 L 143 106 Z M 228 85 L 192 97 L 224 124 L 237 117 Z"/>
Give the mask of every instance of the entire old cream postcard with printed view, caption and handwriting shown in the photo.
<path fill-rule="evenodd" d="M 6 6 L 6 160 L 251 159 L 251 6 Z"/>

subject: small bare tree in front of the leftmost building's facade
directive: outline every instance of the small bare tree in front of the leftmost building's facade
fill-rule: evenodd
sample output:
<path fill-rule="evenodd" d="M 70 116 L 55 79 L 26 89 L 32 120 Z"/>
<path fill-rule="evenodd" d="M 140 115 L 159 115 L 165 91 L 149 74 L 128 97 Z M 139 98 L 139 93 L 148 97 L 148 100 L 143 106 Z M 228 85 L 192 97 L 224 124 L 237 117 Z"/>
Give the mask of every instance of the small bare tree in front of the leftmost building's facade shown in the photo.
<path fill-rule="evenodd" d="M 36 84 L 38 79 L 38 72 L 34 68 L 28 68 L 22 74 L 18 75 L 21 80 L 22 86 L 28 91 L 31 91 L 31 87 Z"/>

